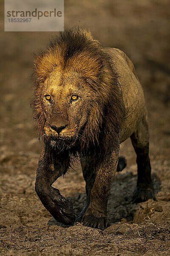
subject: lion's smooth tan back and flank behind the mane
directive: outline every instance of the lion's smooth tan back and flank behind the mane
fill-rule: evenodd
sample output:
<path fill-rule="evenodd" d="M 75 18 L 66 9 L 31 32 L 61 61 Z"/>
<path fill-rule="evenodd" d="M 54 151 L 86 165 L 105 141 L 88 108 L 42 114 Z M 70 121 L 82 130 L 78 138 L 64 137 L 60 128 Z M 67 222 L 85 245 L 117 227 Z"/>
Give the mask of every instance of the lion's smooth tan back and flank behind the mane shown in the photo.
<path fill-rule="evenodd" d="M 125 104 L 126 116 L 120 137 L 123 142 L 135 131 L 146 113 L 144 94 L 134 65 L 127 55 L 116 48 L 106 48 L 106 51 L 111 55 L 113 68 L 116 68 L 118 73 L 118 81 L 122 88 Z"/>

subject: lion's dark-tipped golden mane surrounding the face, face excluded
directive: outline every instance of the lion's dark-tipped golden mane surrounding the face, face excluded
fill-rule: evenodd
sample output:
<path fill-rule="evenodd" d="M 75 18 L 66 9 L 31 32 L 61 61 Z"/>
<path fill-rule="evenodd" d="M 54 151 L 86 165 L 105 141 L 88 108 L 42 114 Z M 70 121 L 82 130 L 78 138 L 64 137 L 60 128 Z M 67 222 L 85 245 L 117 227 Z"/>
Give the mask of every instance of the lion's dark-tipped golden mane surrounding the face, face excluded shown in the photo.
<path fill-rule="evenodd" d="M 58 36 L 51 38 L 46 50 L 35 55 L 35 91 L 31 105 L 39 136 L 42 135 L 45 124 L 41 103 L 42 83 L 56 66 L 63 70 L 71 67 L 75 72 L 81 73 L 85 82 L 96 93 L 90 117 L 81 131 L 84 139 L 80 141 L 79 150 L 83 154 L 88 150 L 96 150 L 101 154 L 101 150 L 107 150 L 111 143 L 119 143 L 125 108 L 118 75 L 110 55 L 86 29 L 60 32 Z"/>

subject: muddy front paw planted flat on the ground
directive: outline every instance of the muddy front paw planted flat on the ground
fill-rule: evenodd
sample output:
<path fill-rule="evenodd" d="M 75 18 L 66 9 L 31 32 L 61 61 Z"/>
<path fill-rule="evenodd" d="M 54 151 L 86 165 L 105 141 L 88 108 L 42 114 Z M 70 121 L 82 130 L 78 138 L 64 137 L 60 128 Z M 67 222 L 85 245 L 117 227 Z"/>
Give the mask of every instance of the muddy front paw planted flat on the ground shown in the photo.
<path fill-rule="evenodd" d="M 82 224 L 84 226 L 93 227 L 100 230 L 104 230 L 110 226 L 106 216 L 97 218 L 94 215 L 84 215 L 82 218 Z"/>

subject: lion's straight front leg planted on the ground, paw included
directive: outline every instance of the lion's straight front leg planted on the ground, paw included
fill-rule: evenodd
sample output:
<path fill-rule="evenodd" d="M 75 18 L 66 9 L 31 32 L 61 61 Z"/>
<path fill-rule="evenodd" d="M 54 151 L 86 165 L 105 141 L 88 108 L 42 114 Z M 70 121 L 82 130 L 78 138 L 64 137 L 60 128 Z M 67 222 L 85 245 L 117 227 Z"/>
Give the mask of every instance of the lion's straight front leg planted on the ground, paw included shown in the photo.
<path fill-rule="evenodd" d="M 102 161 L 96 164 L 96 179 L 91 190 L 91 200 L 82 223 L 85 226 L 104 230 L 109 226 L 107 204 L 111 184 L 119 159 L 119 147 L 110 154 L 106 153 Z"/>

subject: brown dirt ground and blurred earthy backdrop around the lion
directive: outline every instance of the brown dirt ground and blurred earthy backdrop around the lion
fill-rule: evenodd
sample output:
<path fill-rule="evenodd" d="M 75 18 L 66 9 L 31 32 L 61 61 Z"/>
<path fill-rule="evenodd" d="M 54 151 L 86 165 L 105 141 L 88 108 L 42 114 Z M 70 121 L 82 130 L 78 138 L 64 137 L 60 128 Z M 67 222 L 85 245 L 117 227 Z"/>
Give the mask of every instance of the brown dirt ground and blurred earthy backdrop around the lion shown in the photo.
<path fill-rule="evenodd" d="M 136 156 L 127 140 L 120 151 L 127 167 L 112 185 L 111 227 L 105 231 L 57 223 L 34 191 L 42 142 L 29 108 L 32 52 L 47 43 L 50 33 L 3 32 L 3 8 L 0 1 L 0 255 L 170 255 L 169 0 L 65 1 L 65 26 L 89 27 L 105 46 L 124 50 L 135 64 L 147 102 L 156 201 L 131 201 Z M 57 188 L 78 213 L 85 202 L 81 167 L 60 177 Z"/>

